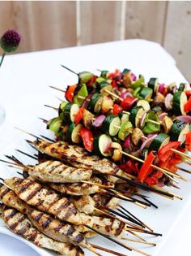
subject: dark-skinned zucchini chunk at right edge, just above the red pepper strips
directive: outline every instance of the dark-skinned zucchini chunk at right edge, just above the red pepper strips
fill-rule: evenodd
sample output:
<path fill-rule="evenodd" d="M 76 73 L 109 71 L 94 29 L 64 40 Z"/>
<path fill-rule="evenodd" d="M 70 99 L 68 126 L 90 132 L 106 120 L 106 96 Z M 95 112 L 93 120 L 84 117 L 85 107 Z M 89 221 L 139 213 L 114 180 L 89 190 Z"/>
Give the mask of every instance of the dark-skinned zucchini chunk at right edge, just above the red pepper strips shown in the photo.
<path fill-rule="evenodd" d="M 189 124 L 176 120 L 172 124 L 172 128 L 169 132 L 172 141 L 180 141 L 181 144 L 185 142 L 186 134 L 189 132 Z"/>

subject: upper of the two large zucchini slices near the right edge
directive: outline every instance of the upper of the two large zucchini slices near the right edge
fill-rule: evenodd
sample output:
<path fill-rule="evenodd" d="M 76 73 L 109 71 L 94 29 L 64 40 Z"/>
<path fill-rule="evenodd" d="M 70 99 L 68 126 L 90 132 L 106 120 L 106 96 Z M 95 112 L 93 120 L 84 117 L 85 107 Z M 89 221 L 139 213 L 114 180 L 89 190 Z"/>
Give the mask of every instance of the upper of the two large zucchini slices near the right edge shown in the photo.
<path fill-rule="evenodd" d="M 172 98 L 172 110 L 176 115 L 186 115 L 185 103 L 187 102 L 187 96 L 185 92 L 178 91 L 174 93 Z"/>

